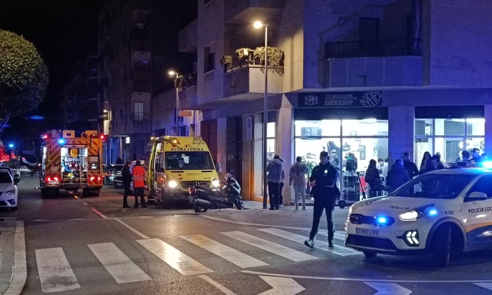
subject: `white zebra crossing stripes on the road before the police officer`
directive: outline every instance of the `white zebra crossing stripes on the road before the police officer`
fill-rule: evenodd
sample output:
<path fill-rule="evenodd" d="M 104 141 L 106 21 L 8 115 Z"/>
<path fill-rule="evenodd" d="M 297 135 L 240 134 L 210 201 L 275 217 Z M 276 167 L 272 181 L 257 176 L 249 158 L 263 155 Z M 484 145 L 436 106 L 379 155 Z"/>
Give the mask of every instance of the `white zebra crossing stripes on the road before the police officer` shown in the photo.
<path fill-rule="evenodd" d="M 274 260 L 265 260 L 264 256 L 258 255 L 265 260 L 262 261 L 260 259 L 261 257 L 253 257 L 249 253 L 244 253 L 244 246 L 239 247 L 243 251 L 234 248 L 235 246 L 238 247 L 238 241 L 240 244 L 246 244 L 246 248 L 251 248 L 247 247 L 249 245 L 254 249 L 260 249 L 260 251 L 268 253 L 268 257 L 271 257 L 273 254 L 273 256 L 282 257 L 292 262 L 332 259 L 360 253 L 340 245 L 337 245 L 334 249 L 329 249 L 327 243 L 320 240 L 316 241 L 316 247 L 323 250 L 322 252 L 310 251 L 304 245 L 299 245 L 295 248 L 289 247 L 285 244 L 292 245 L 290 241 L 301 243 L 304 242 L 306 237 L 274 228 L 251 230 L 248 233 L 233 231 L 220 232 L 219 234 L 219 238 L 222 237 L 221 239 L 223 240 L 219 241 L 217 237 L 213 239 L 204 235 L 179 236 L 179 238 L 185 242 L 189 242 L 190 245 L 204 249 L 222 258 L 228 264 L 232 263 L 239 267 L 240 270 L 275 264 L 272 263 Z M 277 242 L 267 239 L 268 236 L 276 239 Z M 182 248 L 178 249 L 160 238 L 142 237 L 144 238 L 137 239 L 136 242 L 143 249 L 155 255 L 181 275 L 204 275 L 214 272 L 213 269 L 191 257 L 195 251 L 184 253 Z M 283 238 L 285 243 L 279 243 L 278 237 Z M 106 272 L 111 275 L 117 284 L 152 280 L 151 274 L 146 274 L 115 243 L 104 242 L 84 246 L 90 249 L 96 258 L 95 261 L 98 261 L 99 265 L 104 267 Z M 255 251 L 255 254 L 257 254 L 257 251 Z M 36 249 L 35 256 L 43 293 L 70 291 L 81 288 L 69 264 L 69 259 L 65 256 L 61 247 Z"/>

